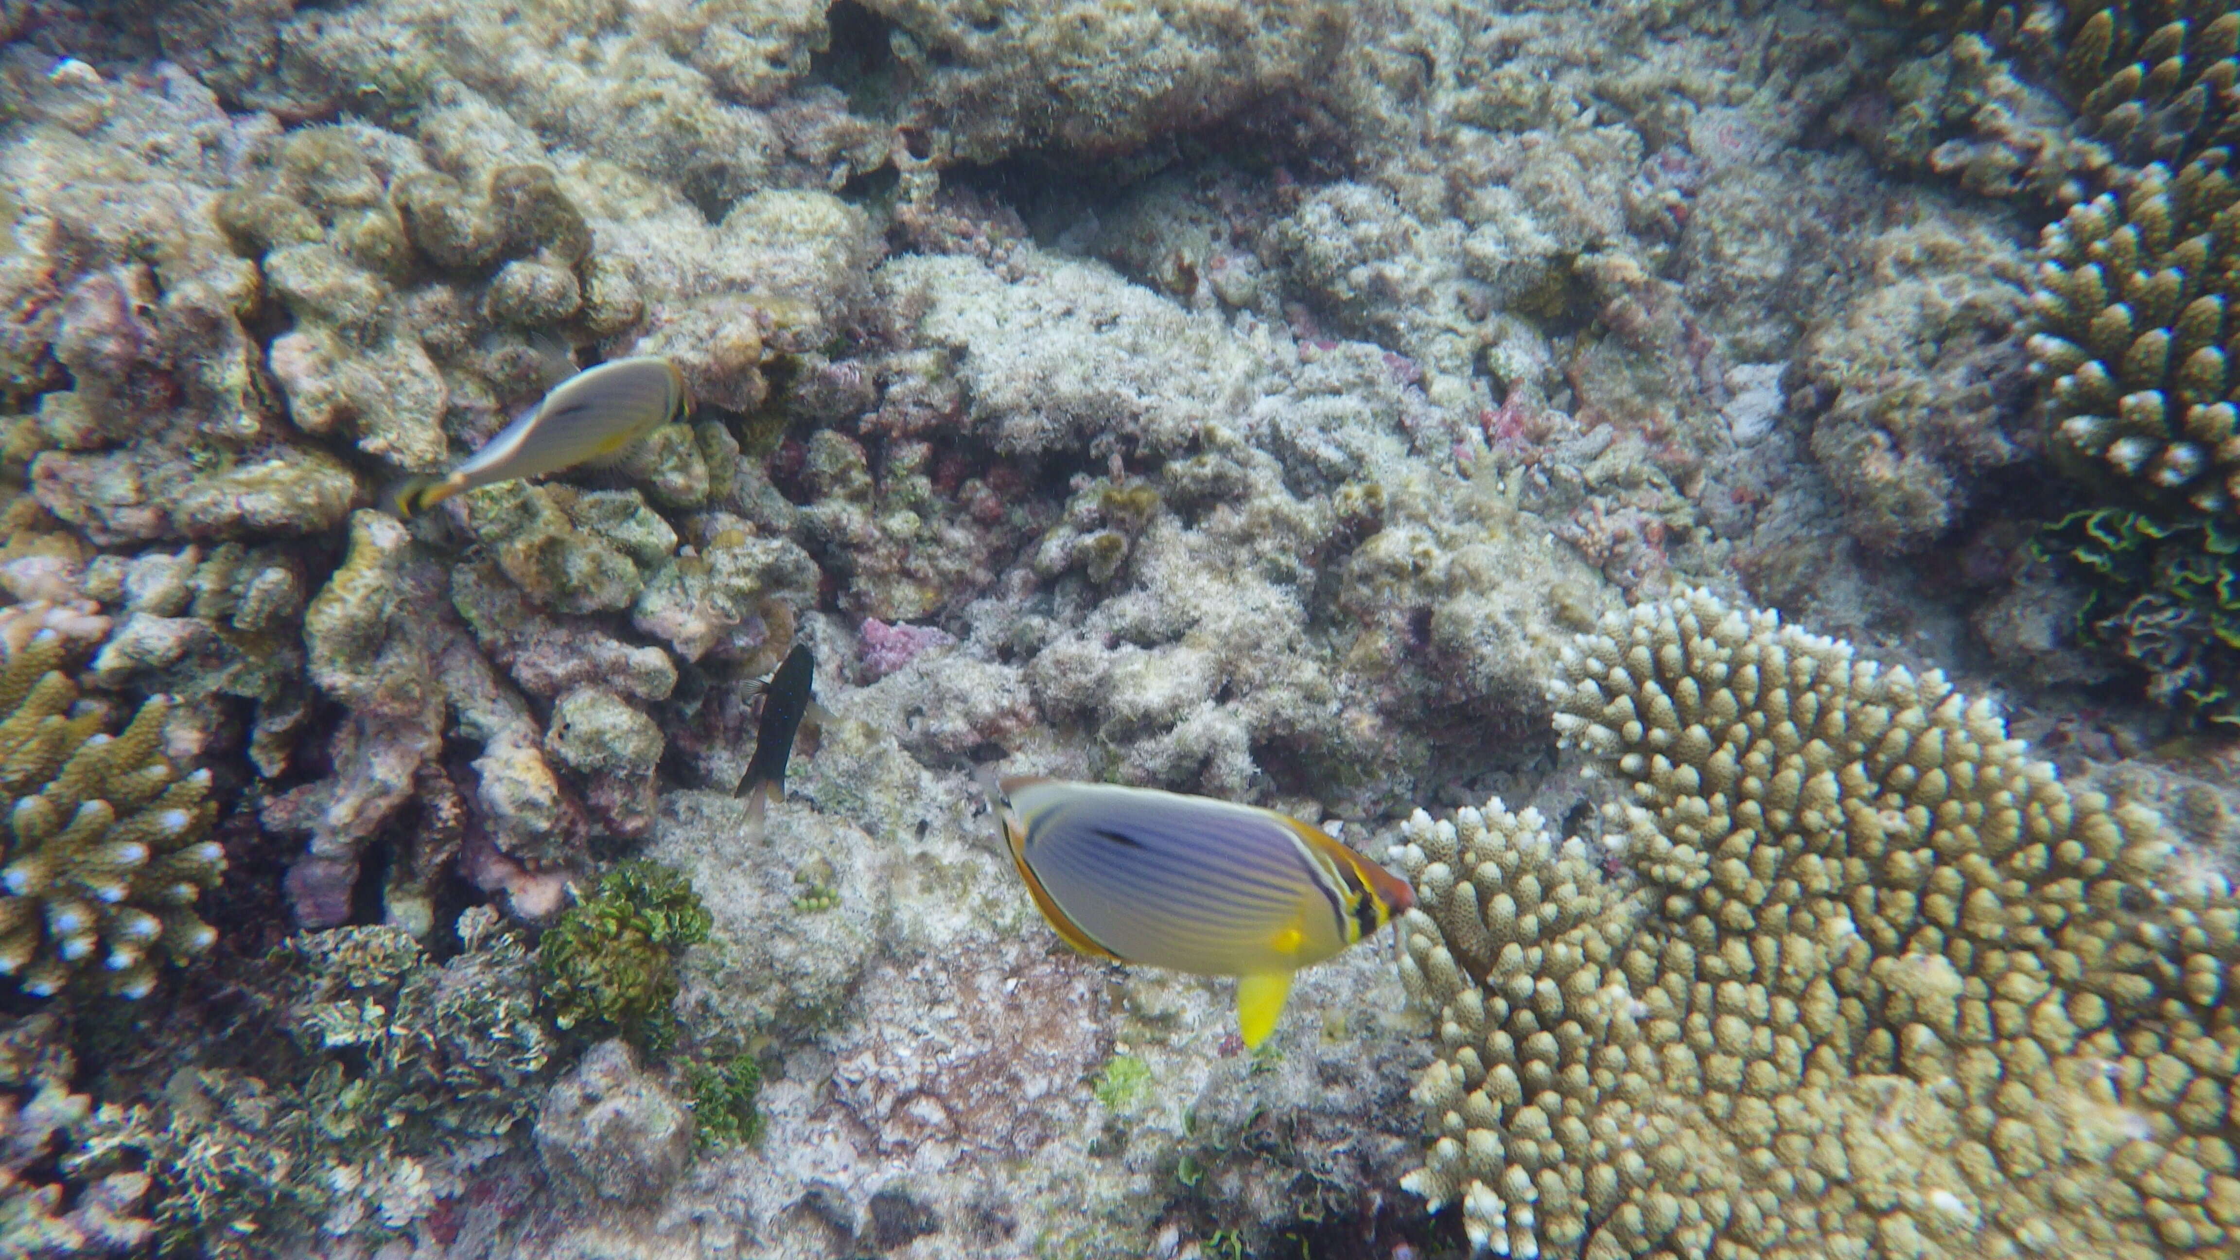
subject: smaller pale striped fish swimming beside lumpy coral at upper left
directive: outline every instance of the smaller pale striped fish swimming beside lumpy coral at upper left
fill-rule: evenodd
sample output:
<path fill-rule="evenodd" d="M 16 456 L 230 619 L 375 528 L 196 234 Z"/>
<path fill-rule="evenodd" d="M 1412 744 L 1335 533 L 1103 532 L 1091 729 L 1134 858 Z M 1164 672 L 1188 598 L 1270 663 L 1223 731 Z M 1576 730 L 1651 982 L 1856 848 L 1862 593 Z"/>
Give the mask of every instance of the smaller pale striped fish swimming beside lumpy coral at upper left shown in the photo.
<path fill-rule="evenodd" d="M 383 495 L 392 516 L 414 516 L 455 493 L 614 460 L 632 442 L 683 419 L 692 395 L 676 363 L 659 354 L 614 359 L 553 386 L 444 478 L 410 478 Z"/>

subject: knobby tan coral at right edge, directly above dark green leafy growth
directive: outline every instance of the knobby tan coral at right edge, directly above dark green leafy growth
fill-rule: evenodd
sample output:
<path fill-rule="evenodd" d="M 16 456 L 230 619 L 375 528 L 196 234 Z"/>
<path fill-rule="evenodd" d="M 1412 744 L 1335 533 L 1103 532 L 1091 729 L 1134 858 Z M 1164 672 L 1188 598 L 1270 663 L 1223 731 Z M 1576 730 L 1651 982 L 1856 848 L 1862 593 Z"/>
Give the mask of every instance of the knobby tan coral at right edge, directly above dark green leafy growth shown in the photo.
<path fill-rule="evenodd" d="M 2240 22 L 2240 18 L 2236 18 Z M 2224 150 L 2139 170 L 2045 229 L 2029 339 L 2054 377 L 2054 455 L 2132 493 L 2231 513 L 2240 500 L 2240 374 L 2227 307 L 2240 186 Z"/>

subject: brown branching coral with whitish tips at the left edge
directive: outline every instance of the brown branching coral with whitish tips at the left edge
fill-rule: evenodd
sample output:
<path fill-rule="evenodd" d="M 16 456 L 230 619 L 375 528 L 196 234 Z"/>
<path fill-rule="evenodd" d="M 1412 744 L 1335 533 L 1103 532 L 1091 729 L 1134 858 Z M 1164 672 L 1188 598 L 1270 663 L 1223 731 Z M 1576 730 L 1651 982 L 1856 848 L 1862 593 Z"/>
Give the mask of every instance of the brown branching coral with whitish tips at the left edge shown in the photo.
<path fill-rule="evenodd" d="M 164 700 L 110 735 L 60 664 L 63 641 L 40 634 L 0 668 L 0 973 L 38 995 L 76 980 L 141 998 L 159 957 L 217 939 L 195 917 L 226 868 L 204 839 L 211 776 L 161 756 Z"/>

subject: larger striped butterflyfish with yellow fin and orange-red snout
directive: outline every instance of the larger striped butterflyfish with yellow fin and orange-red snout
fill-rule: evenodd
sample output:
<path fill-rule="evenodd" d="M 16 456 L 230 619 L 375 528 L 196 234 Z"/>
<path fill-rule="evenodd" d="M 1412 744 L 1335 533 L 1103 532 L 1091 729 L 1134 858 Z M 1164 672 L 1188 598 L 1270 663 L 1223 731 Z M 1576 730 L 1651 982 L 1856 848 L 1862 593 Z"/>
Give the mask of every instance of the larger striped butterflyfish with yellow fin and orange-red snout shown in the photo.
<path fill-rule="evenodd" d="M 1006 778 L 1004 839 L 1042 917 L 1082 953 L 1236 975 L 1248 1047 L 1290 978 L 1416 904 L 1407 881 L 1319 827 L 1149 787 Z"/>

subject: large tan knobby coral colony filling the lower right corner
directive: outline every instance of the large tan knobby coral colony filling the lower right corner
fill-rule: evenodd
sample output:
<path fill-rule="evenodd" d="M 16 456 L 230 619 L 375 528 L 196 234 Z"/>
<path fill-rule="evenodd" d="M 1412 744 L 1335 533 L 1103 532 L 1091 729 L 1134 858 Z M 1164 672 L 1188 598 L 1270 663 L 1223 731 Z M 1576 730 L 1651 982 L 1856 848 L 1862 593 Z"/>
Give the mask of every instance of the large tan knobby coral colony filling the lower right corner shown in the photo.
<path fill-rule="evenodd" d="M 1622 843 L 1416 814 L 1427 1166 L 1503 1256 L 2229 1256 L 2240 901 L 1938 673 L 1705 592 L 1557 731 Z M 1608 874 L 1606 874 L 1608 870 Z"/>

